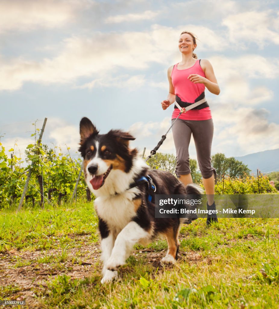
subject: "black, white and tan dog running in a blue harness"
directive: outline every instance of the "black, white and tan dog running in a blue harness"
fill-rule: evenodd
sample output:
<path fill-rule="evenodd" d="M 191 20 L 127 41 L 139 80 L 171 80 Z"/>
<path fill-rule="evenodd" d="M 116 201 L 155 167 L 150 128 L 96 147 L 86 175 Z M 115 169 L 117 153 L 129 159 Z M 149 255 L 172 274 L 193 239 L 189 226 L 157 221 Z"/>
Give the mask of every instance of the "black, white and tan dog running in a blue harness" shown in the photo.
<path fill-rule="evenodd" d="M 164 236 L 168 242 L 161 262 L 174 264 L 177 260 L 180 225 L 193 219 L 155 218 L 154 196 L 150 195 L 148 183 L 156 187 L 156 194 L 202 194 L 197 185 L 185 187 L 171 173 L 151 170 L 138 151 L 129 147 L 131 140 L 135 138 L 121 130 L 99 134 L 88 118 L 81 119 L 79 151 L 86 184 L 96 197 L 102 283 L 118 277 L 119 267 L 136 243 L 146 245 L 156 236 Z"/>

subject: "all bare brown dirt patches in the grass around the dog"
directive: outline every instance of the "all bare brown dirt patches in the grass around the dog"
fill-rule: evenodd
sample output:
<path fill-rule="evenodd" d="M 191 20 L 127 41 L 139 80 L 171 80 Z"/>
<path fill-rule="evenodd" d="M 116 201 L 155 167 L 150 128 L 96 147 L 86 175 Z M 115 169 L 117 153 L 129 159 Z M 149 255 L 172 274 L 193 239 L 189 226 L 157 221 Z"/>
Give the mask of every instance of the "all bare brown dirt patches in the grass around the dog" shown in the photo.
<path fill-rule="evenodd" d="M 81 236 L 79 240 L 84 240 L 84 244 L 79 248 L 67 249 L 65 262 L 59 265 L 62 269 L 53 268 L 53 263 L 38 263 L 40 258 L 59 257 L 61 250 L 48 251 L 9 251 L 0 254 L 0 287 L 9 287 L 6 297 L 12 300 L 26 300 L 28 308 L 40 308 L 40 302 L 36 296 L 48 289 L 48 282 L 58 275 L 66 274 L 72 278 L 82 279 L 89 277 L 90 273 L 101 272 L 100 247 L 99 244 L 86 244 L 86 236 Z M 74 241 L 74 239 L 73 239 Z M 132 255 L 137 257 L 144 256 L 147 264 L 151 264 L 157 272 L 163 271 L 160 264 L 161 258 L 166 254 L 166 249 L 155 251 L 151 248 L 135 250 Z M 78 262 L 74 262 L 78 257 Z M 202 256 L 195 252 L 180 252 L 180 259 L 187 259 L 189 262 L 196 263 Z M 25 266 L 16 267 L 16 263 Z M 30 264 L 30 265 L 26 265 Z M 9 292 L 10 291 L 10 292 Z M 4 293 L 5 294 L 5 293 Z M 25 307 L 25 306 L 23 306 Z M 22 308 L 23 308 L 22 307 Z M 5 306 L 7 308 L 7 306 Z"/>

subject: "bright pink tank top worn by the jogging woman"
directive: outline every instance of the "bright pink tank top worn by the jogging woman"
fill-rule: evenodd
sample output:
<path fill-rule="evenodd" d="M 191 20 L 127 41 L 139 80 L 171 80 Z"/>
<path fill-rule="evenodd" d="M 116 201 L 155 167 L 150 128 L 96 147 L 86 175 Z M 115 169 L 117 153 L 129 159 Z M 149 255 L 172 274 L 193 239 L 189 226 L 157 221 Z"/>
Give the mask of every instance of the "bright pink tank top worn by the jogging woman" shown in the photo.
<path fill-rule="evenodd" d="M 174 87 L 174 93 L 180 97 L 181 101 L 194 103 L 195 99 L 205 90 L 204 84 L 194 84 L 190 82 L 188 76 L 190 74 L 198 74 L 205 77 L 204 71 L 200 66 L 200 61 L 197 60 L 194 66 L 191 66 L 185 70 L 178 70 L 177 64 L 174 65 L 171 74 L 172 83 Z M 179 115 L 180 110 L 175 108 L 173 111 L 172 119 L 175 119 Z M 209 107 L 202 109 L 189 110 L 179 116 L 180 119 L 184 120 L 208 120 L 211 119 L 211 111 Z"/>

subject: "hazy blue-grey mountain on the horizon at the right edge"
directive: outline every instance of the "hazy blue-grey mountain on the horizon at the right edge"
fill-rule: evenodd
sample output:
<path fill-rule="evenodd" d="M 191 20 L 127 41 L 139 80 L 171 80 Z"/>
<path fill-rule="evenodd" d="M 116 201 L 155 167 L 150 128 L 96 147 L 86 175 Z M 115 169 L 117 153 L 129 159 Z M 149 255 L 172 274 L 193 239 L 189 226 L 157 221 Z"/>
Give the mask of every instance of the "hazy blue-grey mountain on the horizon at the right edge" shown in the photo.
<path fill-rule="evenodd" d="M 242 161 L 248 165 L 253 174 L 257 174 L 257 169 L 261 173 L 270 173 L 279 171 L 279 148 L 256 152 L 242 157 L 235 157 L 236 160 Z"/>

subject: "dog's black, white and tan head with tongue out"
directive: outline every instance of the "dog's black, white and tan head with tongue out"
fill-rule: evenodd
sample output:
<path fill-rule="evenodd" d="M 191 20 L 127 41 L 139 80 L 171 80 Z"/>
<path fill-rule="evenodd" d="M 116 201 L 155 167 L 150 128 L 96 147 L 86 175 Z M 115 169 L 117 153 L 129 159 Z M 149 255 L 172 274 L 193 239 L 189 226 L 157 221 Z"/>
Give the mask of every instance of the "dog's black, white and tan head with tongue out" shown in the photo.
<path fill-rule="evenodd" d="M 121 130 L 110 130 L 107 134 L 99 134 L 92 122 L 84 117 L 80 122 L 80 148 L 84 159 L 85 178 L 94 190 L 105 184 L 112 170 L 128 173 L 137 150 L 129 148 L 129 141 L 135 138 Z"/>

